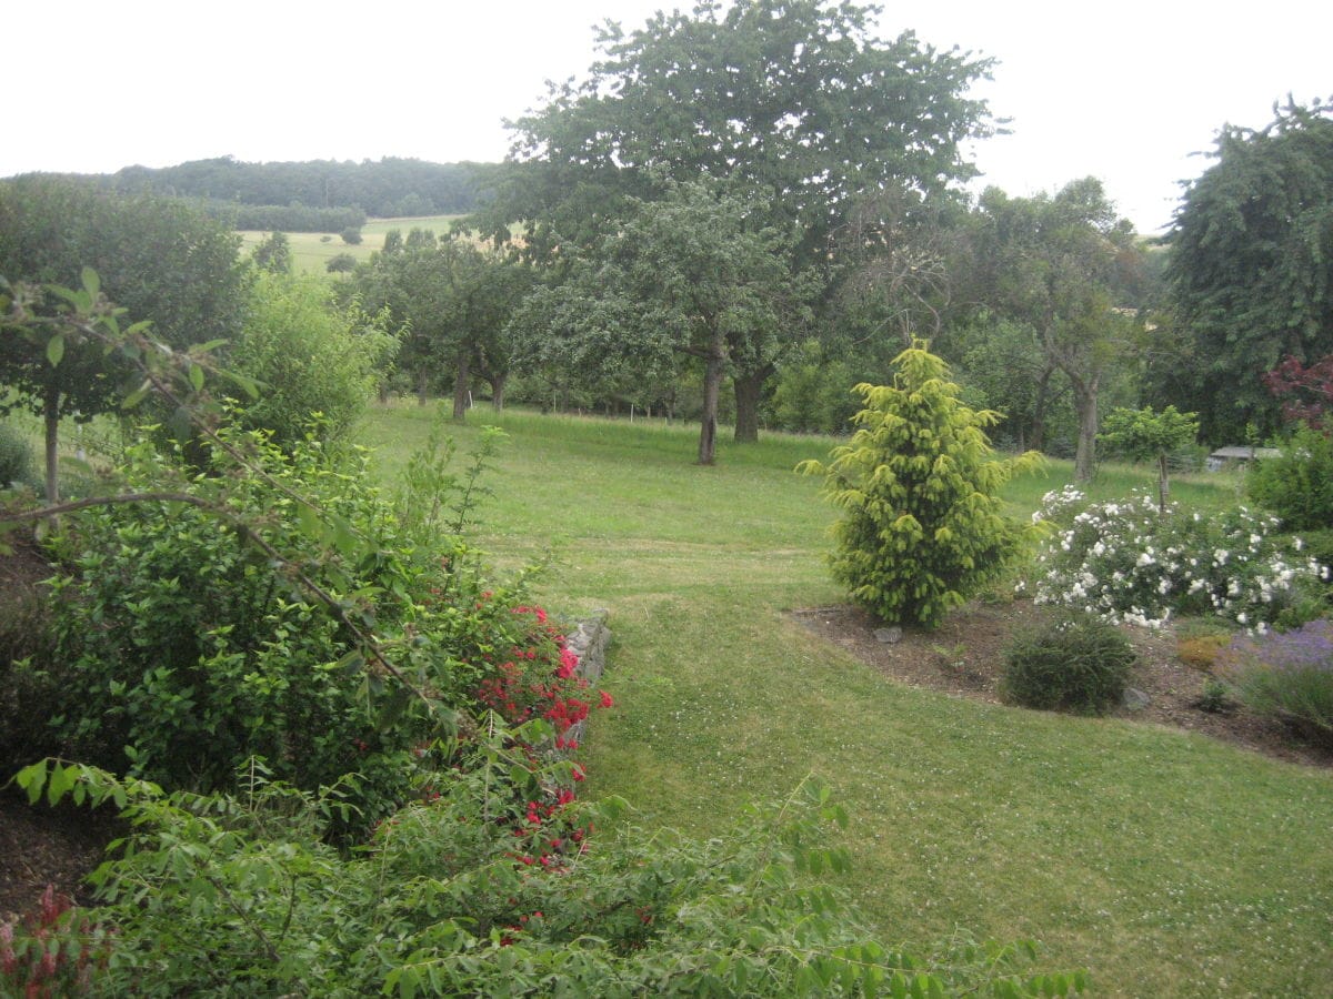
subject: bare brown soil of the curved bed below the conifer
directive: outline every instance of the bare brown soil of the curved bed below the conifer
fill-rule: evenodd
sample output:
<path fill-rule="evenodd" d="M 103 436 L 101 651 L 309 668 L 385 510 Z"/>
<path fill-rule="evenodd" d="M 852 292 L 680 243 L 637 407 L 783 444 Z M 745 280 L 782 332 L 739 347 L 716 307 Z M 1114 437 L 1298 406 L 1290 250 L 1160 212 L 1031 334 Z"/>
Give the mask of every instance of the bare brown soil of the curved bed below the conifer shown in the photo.
<path fill-rule="evenodd" d="M 880 641 L 876 631 L 882 626 L 853 606 L 812 607 L 793 611 L 792 617 L 897 681 L 1002 703 L 998 686 L 1009 638 L 1052 613 L 1025 599 L 972 602 L 949 614 L 936 631 L 902 629 L 896 642 Z M 1208 675 L 1176 657 L 1170 627 L 1145 631 L 1125 626 L 1124 631 L 1138 653 L 1129 685 L 1146 694 L 1148 702 L 1118 707 L 1112 717 L 1188 729 L 1278 759 L 1333 767 L 1333 751 L 1301 742 L 1282 725 L 1242 707 L 1225 714 L 1202 710 L 1198 698 Z"/>

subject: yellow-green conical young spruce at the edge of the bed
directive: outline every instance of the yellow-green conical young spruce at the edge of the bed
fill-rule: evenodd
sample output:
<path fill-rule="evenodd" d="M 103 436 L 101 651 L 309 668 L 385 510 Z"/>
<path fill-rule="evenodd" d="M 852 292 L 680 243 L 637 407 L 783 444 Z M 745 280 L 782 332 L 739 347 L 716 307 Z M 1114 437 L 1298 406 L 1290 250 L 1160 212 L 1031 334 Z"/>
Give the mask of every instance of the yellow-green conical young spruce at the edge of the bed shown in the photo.
<path fill-rule="evenodd" d="M 1022 529 L 1001 515 L 998 492 L 1042 457 L 996 458 L 984 428 L 1000 414 L 965 406 L 924 341 L 893 368 L 892 386 L 856 386 L 865 408 L 852 441 L 797 472 L 822 474 L 844 510 L 830 561 L 852 599 L 885 622 L 936 627 L 1017 550 Z"/>

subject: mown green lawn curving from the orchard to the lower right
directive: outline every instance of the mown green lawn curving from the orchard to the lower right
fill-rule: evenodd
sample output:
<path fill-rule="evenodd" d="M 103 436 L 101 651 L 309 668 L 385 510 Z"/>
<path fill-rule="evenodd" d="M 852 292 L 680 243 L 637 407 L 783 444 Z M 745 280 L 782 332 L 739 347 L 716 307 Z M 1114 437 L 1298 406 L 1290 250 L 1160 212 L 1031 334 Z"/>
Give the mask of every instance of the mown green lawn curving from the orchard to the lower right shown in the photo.
<path fill-rule="evenodd" d="M 392 484 L 431 410 L 376 410 L 364 440 Z M 794 625 L 834 603 L 833 510 L 792 473 L 830 441 L 476 410 L 509 434 L 479 527 L 503 567 L 555 561 L 553 609 L 611 611 L 617 709 L 587 746 L 592 791 L 649 823 L 720 834 L 746 801 L 828 779 L 852 811 L 848 886 L 889 940 L 957 927 L 1032 936 L 1098 994 L 1326 995 L 1333 982 L 1333 774 L 1202 737 L 988 706 L 894 683 Z M 1065 464 L 1013 484 L 1026 514 Z M 1098 496 L 1150 486 L 1106 469 Z M 1236 480 L 1185 477 L 1216 509 Z"/>

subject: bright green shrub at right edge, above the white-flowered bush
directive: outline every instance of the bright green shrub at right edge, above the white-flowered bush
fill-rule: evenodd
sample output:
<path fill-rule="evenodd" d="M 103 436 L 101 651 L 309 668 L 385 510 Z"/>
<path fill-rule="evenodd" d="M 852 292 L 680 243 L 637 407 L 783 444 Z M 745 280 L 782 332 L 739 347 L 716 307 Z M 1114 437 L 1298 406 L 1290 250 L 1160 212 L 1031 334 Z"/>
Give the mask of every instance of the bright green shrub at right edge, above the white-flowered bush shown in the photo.
<path fill-rule="evenodd" d="M 1254 462 L 1245 488 L 1284 530 L 1333 527 L 1333 424 L 1296 429 L 1280 457 Z"/>

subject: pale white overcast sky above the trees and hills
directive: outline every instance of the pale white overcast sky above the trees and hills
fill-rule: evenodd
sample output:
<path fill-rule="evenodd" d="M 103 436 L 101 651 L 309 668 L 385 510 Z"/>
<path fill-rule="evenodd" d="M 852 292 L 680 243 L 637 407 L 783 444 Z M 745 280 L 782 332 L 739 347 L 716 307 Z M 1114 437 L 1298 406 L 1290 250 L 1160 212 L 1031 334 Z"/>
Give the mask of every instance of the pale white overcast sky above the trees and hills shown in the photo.
<path fill-rule="evenodd" d="M 497 161 L 504 119 L 581 76 L 593 25 L 669 0 L 15 0 L 3 24 L 0 177 L 243 161 Z M 1228 12 L 1232 11 L 1232 12 Z M 1097 176 L 1145 234 L 1224 124 L 1333 96 L 1333 4 L 934 0 L 886 4 L 880 37 L 997 60 L 976 95 L 1010 135 L 969 151 L 1013 196 Z"/>

